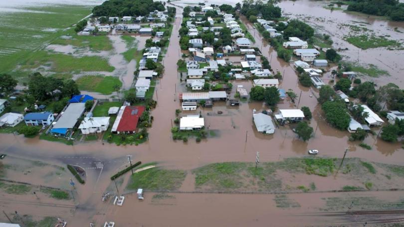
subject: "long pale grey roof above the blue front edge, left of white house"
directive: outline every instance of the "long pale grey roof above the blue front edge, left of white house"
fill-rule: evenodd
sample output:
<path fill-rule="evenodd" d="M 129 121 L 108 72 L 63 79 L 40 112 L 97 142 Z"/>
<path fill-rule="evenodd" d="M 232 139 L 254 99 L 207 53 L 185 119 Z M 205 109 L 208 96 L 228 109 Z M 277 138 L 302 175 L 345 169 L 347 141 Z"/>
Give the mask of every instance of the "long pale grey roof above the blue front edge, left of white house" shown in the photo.
<path fill-rule="evenodd" d="M 53 128 L 73 128 L 85 109 L 85 103 L 69 104 Z"/>

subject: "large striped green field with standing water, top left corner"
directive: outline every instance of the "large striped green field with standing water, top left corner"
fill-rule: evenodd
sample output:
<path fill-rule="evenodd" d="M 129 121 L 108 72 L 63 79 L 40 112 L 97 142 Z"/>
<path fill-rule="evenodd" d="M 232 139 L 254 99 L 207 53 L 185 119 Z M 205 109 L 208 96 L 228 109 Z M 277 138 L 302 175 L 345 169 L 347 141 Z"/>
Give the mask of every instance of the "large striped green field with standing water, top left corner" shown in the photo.
<path fill-rule="evenodd" d="M 90 14 L 91 6 L 53 5 L 0 13 L 0 72 L 13 70 L 20 62 L 63 34 L 63 30 Z"/>

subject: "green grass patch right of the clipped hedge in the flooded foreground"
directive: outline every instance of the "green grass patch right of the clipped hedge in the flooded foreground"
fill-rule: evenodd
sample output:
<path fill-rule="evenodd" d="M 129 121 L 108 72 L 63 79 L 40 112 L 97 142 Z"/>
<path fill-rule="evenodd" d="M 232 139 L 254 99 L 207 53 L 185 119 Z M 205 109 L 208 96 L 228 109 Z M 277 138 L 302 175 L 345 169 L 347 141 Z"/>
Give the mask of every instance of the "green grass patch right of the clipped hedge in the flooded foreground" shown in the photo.
<path fill-rule="evenodd" d="M 142 168 L 142 166 L 139 168 Z M 155 167 L 135 173 L 131 177 L 127 188 L 130 190 L 143 188 L 156 191 L 175 191 L 181 187 L 186 175 L 187 173 L 182 170 L 167 170 Z"/>

